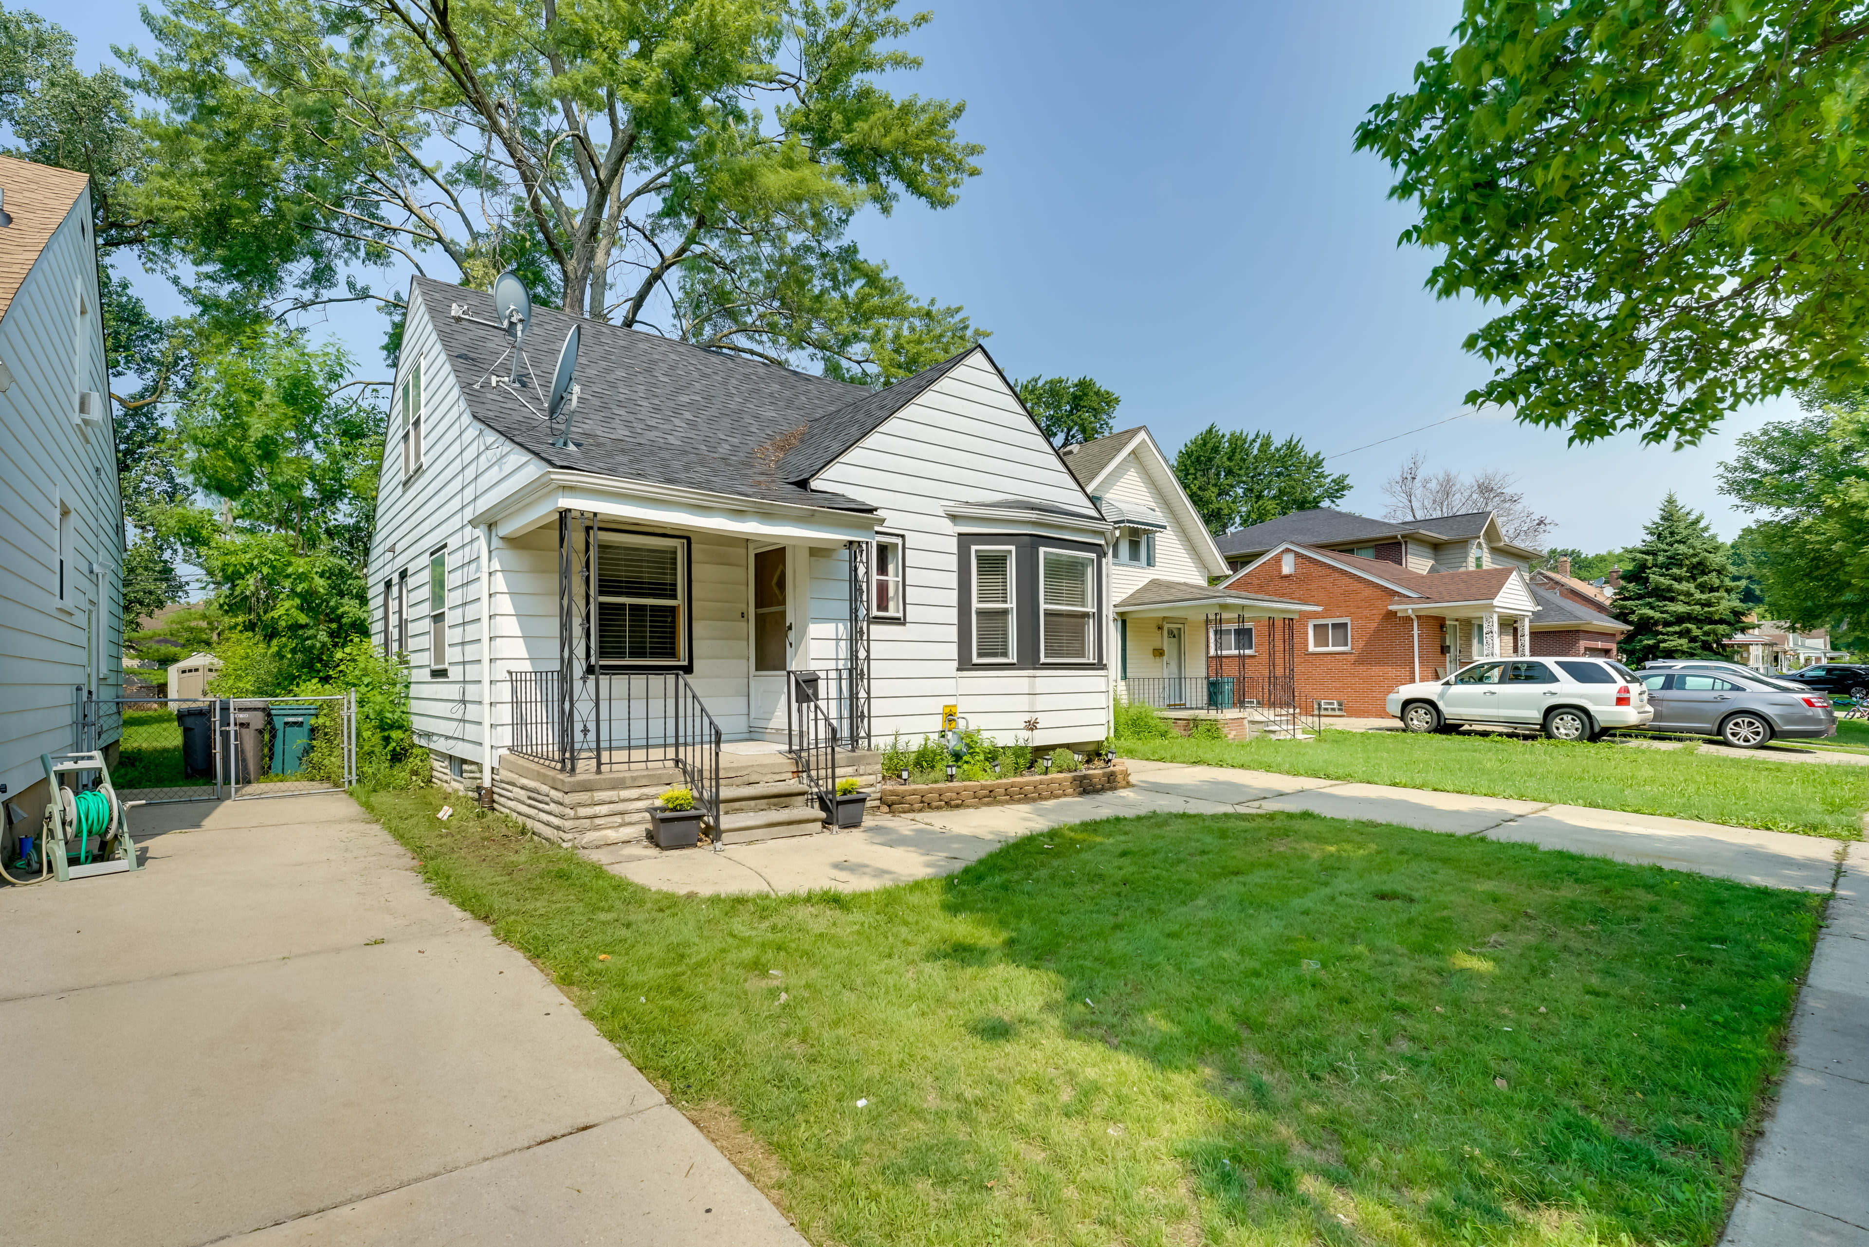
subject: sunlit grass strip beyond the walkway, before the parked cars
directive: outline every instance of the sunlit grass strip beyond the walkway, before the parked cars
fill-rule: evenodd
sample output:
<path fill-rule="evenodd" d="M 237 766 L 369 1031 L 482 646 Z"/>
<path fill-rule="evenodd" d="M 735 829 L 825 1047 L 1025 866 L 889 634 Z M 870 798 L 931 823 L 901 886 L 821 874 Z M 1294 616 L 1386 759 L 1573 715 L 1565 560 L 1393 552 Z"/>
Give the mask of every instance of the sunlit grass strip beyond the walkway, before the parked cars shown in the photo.
<path fill-rule="evenodd" d="M 1329 731 L 1316 740 L 1118 740 L 1123 757 L 1662 813 L 1862 839 L 1869 768 L 1508 735 Z"/>

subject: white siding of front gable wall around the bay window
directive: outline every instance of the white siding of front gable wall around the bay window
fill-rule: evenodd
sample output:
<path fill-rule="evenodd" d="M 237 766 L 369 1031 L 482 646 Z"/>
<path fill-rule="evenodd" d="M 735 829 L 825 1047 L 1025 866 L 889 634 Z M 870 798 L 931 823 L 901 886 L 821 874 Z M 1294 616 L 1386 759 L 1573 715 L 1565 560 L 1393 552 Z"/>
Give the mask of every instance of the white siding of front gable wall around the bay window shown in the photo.
<path fill-rule="evenodd" d="M 1037 744 L 1101 740 L 1108 733 L 1106 669 L 959 669 L 959 542 L 944 507 L 1024 497 L 1095 514 L 1050 441 L 981 353 L 955 365 L 813 484 L 875 505 L 882 512 L 878 531 L 901 533 L 908 546 L 906 623 L 871 628 L 878 744 L 895 733 L 920 740 L 940 731 L 940 709 L 949 703 L 1000 742 L 1024 735 L 1024 722 L 1034 716 Z M 841 552 L 813 559 L 813 662 L 820 667 L 837 662 L 849 630 L 843 559 Z M 1097 591 L 1106 595 L 1108 581 Z M 1105 617 L 1108 608 L 1106 600 L 1097 602 Z"/>

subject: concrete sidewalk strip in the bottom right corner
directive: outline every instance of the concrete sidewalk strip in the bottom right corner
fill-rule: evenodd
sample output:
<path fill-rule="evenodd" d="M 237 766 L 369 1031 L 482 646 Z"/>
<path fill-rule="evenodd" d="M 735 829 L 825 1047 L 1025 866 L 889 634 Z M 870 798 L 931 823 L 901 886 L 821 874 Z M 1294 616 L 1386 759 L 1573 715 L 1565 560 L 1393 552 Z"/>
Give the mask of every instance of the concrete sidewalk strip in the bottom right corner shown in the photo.
<path fill-rule="evenodd" d="M 1791 1068 L 1721 1247 L 1869 1247 L 1869 847 L 1850 845 L 1798 993 Z"/>

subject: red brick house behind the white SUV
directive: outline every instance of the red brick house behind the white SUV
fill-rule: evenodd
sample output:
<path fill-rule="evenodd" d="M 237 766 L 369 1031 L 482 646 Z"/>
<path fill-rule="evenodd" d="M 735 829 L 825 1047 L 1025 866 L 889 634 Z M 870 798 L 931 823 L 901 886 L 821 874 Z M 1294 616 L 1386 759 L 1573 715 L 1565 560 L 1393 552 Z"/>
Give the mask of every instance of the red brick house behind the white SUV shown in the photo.
<path fill-rule="evenodd" d="M 1316 602 L 1303 615 L 1295 647 L 1303 701 L 1342 701 L 1344 714 L 1387 716 L 1383 699 L 1398 686 L 1441 679 L 1475 658 L 1495 654 L 1583 652 L 1538 649 L 1538 615 L 1562 613 L 1553 647 L 1585 645 L 1600 624 L 1572 619 L 1585 608 L 1548 593 L 1540 602 L 1516 565 L 1415 572 L 1340 550 L 1282 542 L 1235 572 L 1235 593 Z M 1592 611 L 1591 611 L 1592 613 Z M 1598 617 L 1611 628 L 1613 619 Z"/>

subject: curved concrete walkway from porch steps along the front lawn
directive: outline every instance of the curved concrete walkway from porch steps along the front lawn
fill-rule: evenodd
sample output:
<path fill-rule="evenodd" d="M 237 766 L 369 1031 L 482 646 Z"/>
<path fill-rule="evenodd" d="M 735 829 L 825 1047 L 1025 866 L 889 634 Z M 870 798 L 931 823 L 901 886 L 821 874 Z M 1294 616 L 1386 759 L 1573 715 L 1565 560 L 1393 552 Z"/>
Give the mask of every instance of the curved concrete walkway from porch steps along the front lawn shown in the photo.
<path fill-rule="evenodd" d="M 725 853 L 662 853 L 645 841 L 587 851 L 611 871 L 663 892 L 862 892 L 951 875 L 996 847 L 1065 823 L 1138 813 L 1250 813 L 1310 810 L 1460 836 L 1568 849 L 1619 862 L 1688 869 L 1721 879 L 1828 892 L 1839 845 L 1817 836 L 1759 832 L 1585 806 L 1426 789 L 1308 780 L 1234 767 L 1127 763 L 1133 787 L 1095 796 L 981 810 L 936 810 L 914 819 L 873 815 L 860 830 L 796 836 Z"/>

